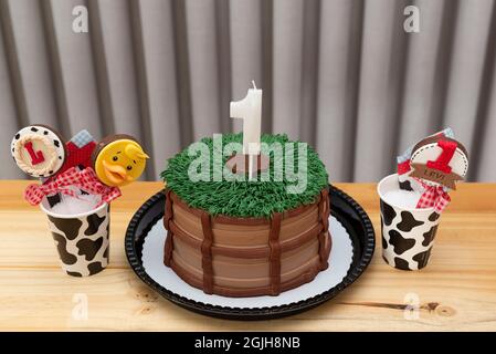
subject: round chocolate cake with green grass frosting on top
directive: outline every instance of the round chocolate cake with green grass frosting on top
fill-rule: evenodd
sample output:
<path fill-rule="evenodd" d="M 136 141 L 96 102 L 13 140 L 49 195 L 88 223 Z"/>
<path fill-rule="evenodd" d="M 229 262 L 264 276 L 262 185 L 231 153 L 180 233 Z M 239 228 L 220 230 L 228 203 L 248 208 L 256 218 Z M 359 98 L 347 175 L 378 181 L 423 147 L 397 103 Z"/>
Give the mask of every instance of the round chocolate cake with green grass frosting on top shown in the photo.
<path fill-rule="evenodd" d="M 224 134 L 221 146 L 241 140 L 241 134 Z M 200 143 L 208 147 L 208 165 L 214 169 L 215 143 L 212 138 Z M 285 135 L 263 135 L 262 143 L 285 148 L 303 144 Z M 193 181 L 188 173 L 198 156 L 186 149 L 169 159 L 161 174 L 163 263 L 190 285 L 223 296 L 278 295 L 312 281 L 328 267 L 330 210 L 324 164 L 310 147 L 304 154 L 306 165 L 294 169 L 306 178 L 297 194 L 287 188 L 294 178 L 279 180 L 274 171 L 277 162 L 286 166 L 292 159 L 287 154 L 268 153 L 270 178 L 257 171 L 256 180 L 215 180 L 215 171 L 209 171 L 203 175 L 208 178 Z M 229 159 L 222 156 L 222 166 Z"/>

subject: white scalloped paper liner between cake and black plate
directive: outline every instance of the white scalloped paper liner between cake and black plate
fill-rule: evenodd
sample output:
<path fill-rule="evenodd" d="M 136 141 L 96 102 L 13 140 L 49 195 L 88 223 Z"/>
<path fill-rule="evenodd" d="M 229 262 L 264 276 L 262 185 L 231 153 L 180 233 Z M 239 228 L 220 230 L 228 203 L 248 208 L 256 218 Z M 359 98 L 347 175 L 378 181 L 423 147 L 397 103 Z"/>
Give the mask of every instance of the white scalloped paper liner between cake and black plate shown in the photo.
<path fill-rule="evenodd" d="M 315 279 L 302 287 L 282 292 L 278 296 L 226 298 L 209 295 L 180 279 L 172 269 L 163 266 L 163 242 L 166 230 L 159 220 L 148 232 L 143 244 L 141 262 L 148 275 L 165 289 L 183 298 L 211 305 L 257 309 L 277 306 L 307 300 L 328 291 L 348 273 L 353 259 L 353 247 L 345 227 L 333 216 L 329 217 L 329 231 L 333 248 L 329 256 L 329 267 L 319 272 Z"/>

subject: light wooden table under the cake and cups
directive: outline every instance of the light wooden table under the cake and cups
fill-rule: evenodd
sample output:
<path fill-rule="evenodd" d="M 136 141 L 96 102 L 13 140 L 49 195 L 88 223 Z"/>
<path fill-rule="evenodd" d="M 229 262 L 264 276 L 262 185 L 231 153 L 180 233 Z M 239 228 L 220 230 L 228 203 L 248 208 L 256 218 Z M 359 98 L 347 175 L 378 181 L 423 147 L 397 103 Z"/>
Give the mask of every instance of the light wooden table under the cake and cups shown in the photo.
<path fill-rule="evenodd" d="M 496 330 L 496 184 L 463 184 L 443 215 L 430 264 L 395 270 L 381 259 L 374 184 L 337 184 L 370 216 L 377 249 L 365 274 L 331 301 L 281 320 L 241 322 L 194 314 L 160 298 L 130 270 L 124 233 L 160 190 L 138 183 L 113 204 L 110 264 L 64 274 L 46 217 L 22 198 L 27 181 L 0 181 L 0 330 L 448 331 Z M 409 312 L 409 302 L 420 310 Z M 87 319 L 84 304 L 87 303 Z"/>

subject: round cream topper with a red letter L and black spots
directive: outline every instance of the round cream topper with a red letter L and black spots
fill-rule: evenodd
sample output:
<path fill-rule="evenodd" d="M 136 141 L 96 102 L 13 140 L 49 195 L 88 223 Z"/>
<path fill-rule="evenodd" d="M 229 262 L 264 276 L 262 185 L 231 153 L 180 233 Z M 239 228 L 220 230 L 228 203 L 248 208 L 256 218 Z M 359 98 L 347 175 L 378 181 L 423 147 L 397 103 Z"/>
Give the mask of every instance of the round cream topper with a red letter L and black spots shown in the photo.
<path fill-rule="evenodd" d="M 55 175 L 66 158 L 65 144 L 60 134 L 41 124 L 20 129 L 12 139 L 11 153 L 23 173 L 38 178 Z"/>

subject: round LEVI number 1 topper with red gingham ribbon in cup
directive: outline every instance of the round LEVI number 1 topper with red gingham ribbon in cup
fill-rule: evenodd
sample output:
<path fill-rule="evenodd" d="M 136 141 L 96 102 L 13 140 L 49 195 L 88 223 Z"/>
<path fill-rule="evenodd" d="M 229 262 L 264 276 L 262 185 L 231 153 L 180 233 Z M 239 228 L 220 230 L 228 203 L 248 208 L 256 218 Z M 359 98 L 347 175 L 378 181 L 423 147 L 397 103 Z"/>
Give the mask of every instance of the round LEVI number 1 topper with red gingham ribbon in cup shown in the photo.
<path fill-rule="evenodd" d="M 428 136 L 397 158 L 400 189 L 421 194 L 416 208 L 441 214 L 468 170 L 468 153 L 451 128 Z"/>

